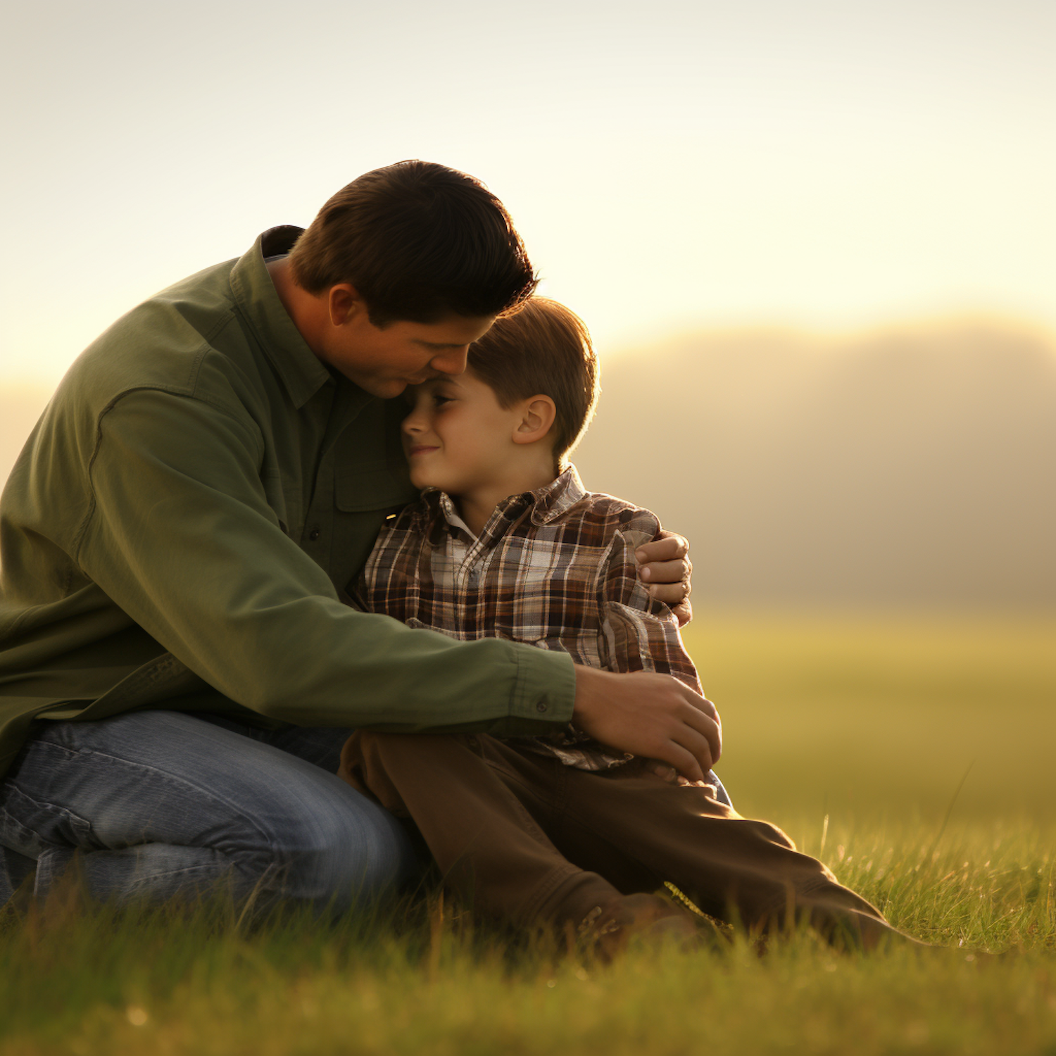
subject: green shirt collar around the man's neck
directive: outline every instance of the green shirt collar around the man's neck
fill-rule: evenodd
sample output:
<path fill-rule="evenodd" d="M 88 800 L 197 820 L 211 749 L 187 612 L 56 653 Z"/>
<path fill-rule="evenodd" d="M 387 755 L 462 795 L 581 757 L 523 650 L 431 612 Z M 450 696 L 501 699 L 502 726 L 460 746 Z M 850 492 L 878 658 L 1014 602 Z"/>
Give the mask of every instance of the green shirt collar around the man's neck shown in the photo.
<path fill-rule="evenodd" d="M 282 306 L 264 260 L 288 253 L 301 233 L 302 228 L 289 225 L 269 228 L 231 270 L 234 302 L 298 410 L 326 384 L 331 374 Z"/>

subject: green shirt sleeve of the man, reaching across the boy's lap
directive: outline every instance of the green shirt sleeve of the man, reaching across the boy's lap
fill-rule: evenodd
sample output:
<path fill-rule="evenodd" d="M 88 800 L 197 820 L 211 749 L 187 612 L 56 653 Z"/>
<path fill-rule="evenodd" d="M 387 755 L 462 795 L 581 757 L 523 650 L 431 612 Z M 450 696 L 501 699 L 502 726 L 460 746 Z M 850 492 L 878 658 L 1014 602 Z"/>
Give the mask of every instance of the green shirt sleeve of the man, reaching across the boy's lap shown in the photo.
<path fill-rule="evenodd" d="M 232 700 L 301 725 L 546 732 L 566 723 L 566 656 L 455 642 L 343 605 L 280 527 L 251 422 L 156 390 L 101 418 L 76 557 L 166 649 Z"/>

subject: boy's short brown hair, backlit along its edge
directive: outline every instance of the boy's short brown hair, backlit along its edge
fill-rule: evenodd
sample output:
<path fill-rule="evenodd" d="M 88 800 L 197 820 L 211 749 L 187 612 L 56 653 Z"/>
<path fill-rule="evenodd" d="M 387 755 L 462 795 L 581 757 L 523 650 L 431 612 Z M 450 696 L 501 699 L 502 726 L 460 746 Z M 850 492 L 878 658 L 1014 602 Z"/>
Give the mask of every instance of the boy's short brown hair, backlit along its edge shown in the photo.
<path fill-rule="evenodd" d="M 558 413 L 550 437 L 554 464 L 563 469 L 600 391 L 598 360 L 583 320 L 557 301 L 533 297 L 469 346 L 469 369 L 501 407 L 535 395 L 553 400 Z"/>

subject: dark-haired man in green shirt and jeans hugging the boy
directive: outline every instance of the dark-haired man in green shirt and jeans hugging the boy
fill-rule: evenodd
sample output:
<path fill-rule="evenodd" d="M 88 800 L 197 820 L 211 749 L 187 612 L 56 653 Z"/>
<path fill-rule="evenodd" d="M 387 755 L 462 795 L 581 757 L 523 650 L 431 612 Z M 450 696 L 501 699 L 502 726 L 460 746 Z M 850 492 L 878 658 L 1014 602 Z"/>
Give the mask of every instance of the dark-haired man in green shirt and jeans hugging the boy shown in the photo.
<path fill-rule="evenodd" d="M 414 855 L 337 778 L 348 728 L 572 720 L 708 769 L 714 710 L 674 679 L 340 601 L 416 494 L 386 400 L 460 373 L 534 285 L 483 185 L 401 163 L 307 231 L 272 229 L 151 298 L 74 363 L 0 507 L 0 901 L 31 872 L 46 891 L 78 852 L 103 898 L 227 879 L 343 908 L 384 890 Z M 679 541 L 644 558 L 652 583 L 682 579 Z"/>

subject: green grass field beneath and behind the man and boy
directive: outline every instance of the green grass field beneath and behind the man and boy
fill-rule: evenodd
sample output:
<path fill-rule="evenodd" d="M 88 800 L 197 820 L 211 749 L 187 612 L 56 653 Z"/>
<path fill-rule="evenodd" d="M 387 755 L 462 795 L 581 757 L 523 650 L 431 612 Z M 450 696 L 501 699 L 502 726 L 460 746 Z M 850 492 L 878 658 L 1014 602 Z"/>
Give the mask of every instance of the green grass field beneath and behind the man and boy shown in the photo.
<path fill-rule="evenodd" d="M 735 805 L 950 953 L 797 935 L 602 967 L 435 891 L 333 927 L 68 892 L 0 916 L 0 1051 L 1056 1056 L 1056 621 L 702 615 L 686 641 Z"/>

